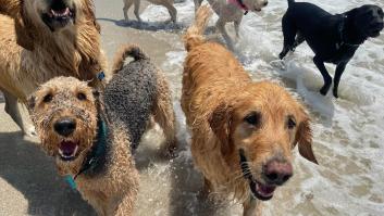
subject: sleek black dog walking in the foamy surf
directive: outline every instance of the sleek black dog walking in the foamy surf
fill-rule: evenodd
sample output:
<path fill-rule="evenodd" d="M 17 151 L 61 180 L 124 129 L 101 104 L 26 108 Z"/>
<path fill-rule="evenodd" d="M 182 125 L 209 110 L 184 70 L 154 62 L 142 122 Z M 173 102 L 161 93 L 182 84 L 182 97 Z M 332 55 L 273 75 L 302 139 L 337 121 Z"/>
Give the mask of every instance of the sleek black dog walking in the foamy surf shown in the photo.
<path fill-rule="evenodd" d="M 330 90 L 332 77 L 324 62 L 336 64 L 333 94 L 342 74 L 356 50 L 369 37 L 380 36 L 383 29 L 383 10 L 376 5 L 362 5 L 346 13 L 332 15 L 319 7 L 307 2 L 288 0 L 288 10 L 283 17 L 283 59 L 289 50 L 307 41 L 315 53 L 313 62 L 324 78 L 320 93 Z"/>

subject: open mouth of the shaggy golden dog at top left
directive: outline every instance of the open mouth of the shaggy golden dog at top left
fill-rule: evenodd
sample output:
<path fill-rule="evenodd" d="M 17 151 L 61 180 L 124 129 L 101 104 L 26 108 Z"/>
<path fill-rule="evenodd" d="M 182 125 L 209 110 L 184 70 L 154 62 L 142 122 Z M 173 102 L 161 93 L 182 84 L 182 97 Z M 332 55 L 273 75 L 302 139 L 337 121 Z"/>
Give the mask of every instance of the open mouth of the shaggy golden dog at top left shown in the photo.
<path fill-rule="evenodd" d="M 63 0 L 53 1 L 46 13 L 42 13 L 42 21 L 53 31 L 75 22 L 76 10 L 66 5 Z"/>

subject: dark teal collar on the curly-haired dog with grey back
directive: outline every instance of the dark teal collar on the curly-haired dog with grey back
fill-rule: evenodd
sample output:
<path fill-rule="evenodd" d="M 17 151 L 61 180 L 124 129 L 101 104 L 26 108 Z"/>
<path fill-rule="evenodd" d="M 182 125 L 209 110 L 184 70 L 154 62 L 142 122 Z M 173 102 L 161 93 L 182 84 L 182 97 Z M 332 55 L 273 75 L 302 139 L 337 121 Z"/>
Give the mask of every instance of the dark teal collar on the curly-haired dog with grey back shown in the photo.
<path fill-rule="evenodd" d="M 96 142 L 94 143 L 91 151 L 84 161 L 80 170 L 73 177 L 74 180 L 82 174 L 90 175 L 100 170 L 102 165 L 106 163 L 106 154 L 108 148 L 107 137 L 108 127 L 106 123 L 99 117 Z"/>

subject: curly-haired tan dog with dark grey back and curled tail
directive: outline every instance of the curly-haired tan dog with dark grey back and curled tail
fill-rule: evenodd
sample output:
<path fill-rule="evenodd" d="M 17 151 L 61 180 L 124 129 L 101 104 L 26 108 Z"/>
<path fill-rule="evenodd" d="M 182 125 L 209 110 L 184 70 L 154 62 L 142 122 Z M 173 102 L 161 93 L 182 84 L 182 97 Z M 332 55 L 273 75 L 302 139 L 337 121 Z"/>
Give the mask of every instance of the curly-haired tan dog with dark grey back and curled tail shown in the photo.
<path fill-rule="evenodd" d="M 124 60 L 134 61 L 124 65 Z M 116 55 L 104 92 L 74 77 L 57 77 L 28 99 L 40 147 L 99 215 L 132 215 L 138 171 L 132 156 L 153 116 L 168 149 L 176 148 L 168 82 L 136 46 Z"/>

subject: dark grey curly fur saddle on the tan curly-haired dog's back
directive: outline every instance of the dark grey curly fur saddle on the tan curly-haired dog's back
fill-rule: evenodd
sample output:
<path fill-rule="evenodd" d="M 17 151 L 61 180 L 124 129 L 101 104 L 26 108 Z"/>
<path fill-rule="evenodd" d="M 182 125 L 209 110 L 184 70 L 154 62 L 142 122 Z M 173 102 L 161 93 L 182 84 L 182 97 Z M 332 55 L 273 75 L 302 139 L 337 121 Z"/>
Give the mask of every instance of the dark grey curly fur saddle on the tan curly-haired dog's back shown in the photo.
<path fill-rule="evenodd" d="M 157 98 L 157 67 L 138 49 L 129 51 L 135 61 L 113 75 L 104 90 L 104 104 L 111 120 L 120 120 L 129 130 L 135 150 L 147 129 Z"/>

